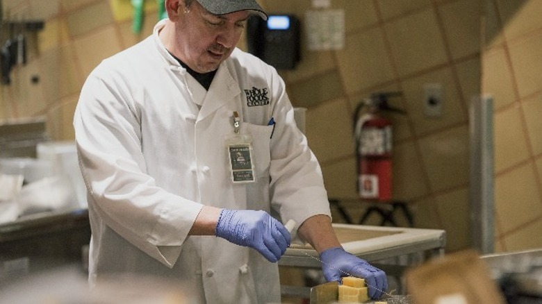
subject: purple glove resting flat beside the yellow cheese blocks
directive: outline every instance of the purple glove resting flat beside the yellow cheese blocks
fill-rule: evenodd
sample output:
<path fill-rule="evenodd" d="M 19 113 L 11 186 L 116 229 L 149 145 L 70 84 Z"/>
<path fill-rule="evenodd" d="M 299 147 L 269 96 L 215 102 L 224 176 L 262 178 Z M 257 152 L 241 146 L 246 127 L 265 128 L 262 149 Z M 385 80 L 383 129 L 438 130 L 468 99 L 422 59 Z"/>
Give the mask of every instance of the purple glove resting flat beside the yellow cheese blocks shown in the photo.
<path fill-rule="evenodd" d="M 322 271 L 327 281 L 340 281 L 343 276 L 364 278 L 370 298 L 380 298 L 388 289 L 386 273 L 372 267 L 366 260 L 347 253 L 341 247 L 332 247 L 320 253 Z"/>

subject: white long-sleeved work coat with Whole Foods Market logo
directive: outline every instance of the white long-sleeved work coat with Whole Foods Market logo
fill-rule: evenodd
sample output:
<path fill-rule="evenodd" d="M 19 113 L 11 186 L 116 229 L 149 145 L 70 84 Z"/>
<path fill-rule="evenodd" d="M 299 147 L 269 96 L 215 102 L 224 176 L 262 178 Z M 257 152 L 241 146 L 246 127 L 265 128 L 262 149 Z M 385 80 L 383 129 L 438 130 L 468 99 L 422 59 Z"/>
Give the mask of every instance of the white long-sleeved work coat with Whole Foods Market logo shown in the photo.
<path fill-rule="evenodd" d="M 276 263 L 188 231 L 203 205 L 272 206 L 284 222 L 298 224 L 330 215 L 319 164 L 295 126 L 277 71 L 236 49 L 206 91 L 163 47 L 163 24 L 101 62 L 76 108 L 92 228 L 90 282 L 136 273 L 179 281 L 193 303 L 278 302 Z M 249 106 L 247 96 L 269 103 Z M 241 132 L 252 135 L 256 183 L 231 182 L 224 138 L 233 134 L 233 111 Z"/>

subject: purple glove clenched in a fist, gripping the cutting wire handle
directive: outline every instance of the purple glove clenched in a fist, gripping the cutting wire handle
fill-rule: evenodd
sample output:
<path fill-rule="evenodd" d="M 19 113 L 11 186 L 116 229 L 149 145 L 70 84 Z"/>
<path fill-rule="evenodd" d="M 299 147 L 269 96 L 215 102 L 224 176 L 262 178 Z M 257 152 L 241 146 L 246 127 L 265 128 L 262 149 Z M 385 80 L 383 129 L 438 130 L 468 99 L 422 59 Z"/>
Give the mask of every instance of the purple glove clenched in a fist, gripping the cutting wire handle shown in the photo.
<path fill-rule="evenodd" d="M 288 230 L 261 210 L 222 210 L 215 234 L 233 244 L 256 249 L 270 262 L 277 262 L 290 246 Z"/>

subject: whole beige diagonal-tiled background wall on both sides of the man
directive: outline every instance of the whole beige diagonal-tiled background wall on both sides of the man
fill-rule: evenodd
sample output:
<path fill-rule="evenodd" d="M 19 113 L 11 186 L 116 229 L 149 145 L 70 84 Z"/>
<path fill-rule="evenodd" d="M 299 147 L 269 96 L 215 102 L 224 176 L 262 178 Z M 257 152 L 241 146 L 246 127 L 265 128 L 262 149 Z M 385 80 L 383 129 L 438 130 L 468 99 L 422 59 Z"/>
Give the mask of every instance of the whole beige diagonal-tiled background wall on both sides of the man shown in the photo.
<path fill-rule="evenodd" d="M 6 17 L 28 11 L 46 26 L 30 39 L 30 61 L 15 67 L 13 85 L 0 87 L 0 119 L 45 115 L 51 137 L 73 139 L 71 119 L 85 77 L 101 59 L 149 35 L 156 22 L 156 1 L 147 0 L 143 31 L 133 34 L 128 2 L 58 0 L 41 8 L 40 1 L 4 0 Z M 260 2 L 270 13 L 288 12 L 302 20 L 311 9 L 310 0 Z M 293 104 L 309 108 L 306 133 L 329 195 L 356 197 L 356 105 L 372 92 L 401 91 L 391 104 L 408 115 L 389 115 L 395 135 L 393 193 L 409 201 L 416 227 L 447 230 L 448 251 L 468 248 L 468 104 L 483 83 L 484 92 L 495 95 L 498 250 L 541 246 L 533 233 L 542 226 L 542 82 L 537 77 L 542 61 L 536 57 L 542 49 L 542 22 L 536 17 L 542 2 L 331 3 L 345 10 L 344 49 L 311 52 L 302 38 L 302 62 L 294 71 L 281 71 Z M 483 56 L 482 6 L 491 11 Z M 240 42 L 242 49 L 245 45 Z M 39 76 L 39 83 L 32 83 L 32 76 Z M 423 114 L 422 88 L 434 82 L 443 85 L 445 104 L 442 117 L 430 119 Z M 361 205 L 350 210 L 354 219 L 362 211 Z"/>

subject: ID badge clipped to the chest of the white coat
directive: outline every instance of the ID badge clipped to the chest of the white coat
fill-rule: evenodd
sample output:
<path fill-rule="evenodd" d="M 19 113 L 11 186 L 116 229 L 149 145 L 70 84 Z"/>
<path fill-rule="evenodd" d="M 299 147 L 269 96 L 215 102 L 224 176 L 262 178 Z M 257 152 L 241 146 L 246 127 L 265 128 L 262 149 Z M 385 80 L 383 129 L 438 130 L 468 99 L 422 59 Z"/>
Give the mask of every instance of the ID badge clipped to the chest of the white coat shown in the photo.
<path fill-rule="evenodd" d="M 233 183 L 254 183 L 254 162 L 252 158 L 252 137 L 231 135 L 226 139 L 229 169 Z"/>

